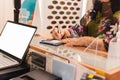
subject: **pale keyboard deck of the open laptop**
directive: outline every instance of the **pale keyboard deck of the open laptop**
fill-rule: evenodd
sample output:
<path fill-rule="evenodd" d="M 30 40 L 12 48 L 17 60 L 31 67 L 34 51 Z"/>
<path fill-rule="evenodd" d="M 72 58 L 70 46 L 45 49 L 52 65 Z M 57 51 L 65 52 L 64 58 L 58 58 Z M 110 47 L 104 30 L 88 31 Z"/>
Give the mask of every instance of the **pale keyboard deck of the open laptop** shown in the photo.
<path fill-rule="evenodd" d="M 18 62 L 15 61 L 14 59 L 12 59 L 4 54 L 0 54 L 0 69 L 5 68 L 5 67 L 10 67 L 10 66 L 16 65 L 16 64 L 18 64 Z"/>

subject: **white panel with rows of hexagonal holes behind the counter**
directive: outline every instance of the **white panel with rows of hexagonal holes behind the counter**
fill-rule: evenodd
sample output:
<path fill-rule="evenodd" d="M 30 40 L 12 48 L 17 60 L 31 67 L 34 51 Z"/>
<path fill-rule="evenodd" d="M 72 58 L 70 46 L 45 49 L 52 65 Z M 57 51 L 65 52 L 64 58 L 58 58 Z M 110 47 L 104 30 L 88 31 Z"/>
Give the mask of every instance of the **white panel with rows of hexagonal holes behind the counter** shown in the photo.
<path fill-rule="evenodd" d="M 79 24 L 81 0 L 39 0 L 40 33 L 50 33 L 54 27 L 69 28 Z"/>

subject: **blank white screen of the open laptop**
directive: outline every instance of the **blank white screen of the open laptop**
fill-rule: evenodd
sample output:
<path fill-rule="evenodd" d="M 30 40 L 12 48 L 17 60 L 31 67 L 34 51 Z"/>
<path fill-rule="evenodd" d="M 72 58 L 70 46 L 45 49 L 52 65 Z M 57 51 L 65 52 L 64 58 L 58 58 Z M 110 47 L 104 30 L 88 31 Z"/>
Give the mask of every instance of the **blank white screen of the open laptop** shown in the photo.
<path fill-rule="evenodd" d="M 22 59 L 36 27 L 8 21 L 0 36 L 0 49 Z"/>

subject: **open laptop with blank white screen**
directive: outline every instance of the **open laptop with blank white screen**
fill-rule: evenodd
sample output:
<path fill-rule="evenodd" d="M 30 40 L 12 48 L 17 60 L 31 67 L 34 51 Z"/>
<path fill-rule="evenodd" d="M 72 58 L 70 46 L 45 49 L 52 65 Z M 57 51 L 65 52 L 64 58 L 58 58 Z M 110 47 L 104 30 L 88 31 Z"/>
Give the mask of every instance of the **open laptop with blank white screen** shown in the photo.
<path fill-rule="evenodd" d="M 0 35 L 0 70 L 24 62 L 37 27 L 7 21 Z"/>

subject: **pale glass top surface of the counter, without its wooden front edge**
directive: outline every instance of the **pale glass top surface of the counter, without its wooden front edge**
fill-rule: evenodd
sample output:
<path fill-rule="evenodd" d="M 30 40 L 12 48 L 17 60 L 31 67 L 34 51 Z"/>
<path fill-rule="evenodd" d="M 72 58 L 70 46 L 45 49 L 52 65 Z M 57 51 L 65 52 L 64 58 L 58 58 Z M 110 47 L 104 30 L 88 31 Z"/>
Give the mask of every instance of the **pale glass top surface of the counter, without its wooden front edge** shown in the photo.
<path fill-rule="evenodd" d="M 51 37 L 49 37 L 51 38 Z M 52 46 L 47 44 L 41 44 L 40 41 L 46 39 L 46 36 L 35 36 L 31 42 L 32 46 L 47 50 L 48 52 L 51 52 L 55 55 L 59 55 L 61 57 L 67 58 L 67 59 L 75 59 L 79 62 L 83 62 L 86 64 L 89 64 L 91 66 L 100 68 L 105 71 L 110 71 L 112 69 L 115 69 L 116 67 L 120 65 L 110 65 L 107 64 L 107 53 L 95 50 L 85 50 L 85 48 L 74 48 L 74 47 L 66 47 L 64 45 L 61 46 Z M 108 67 L 109 66 L 109 67 Z"/>

